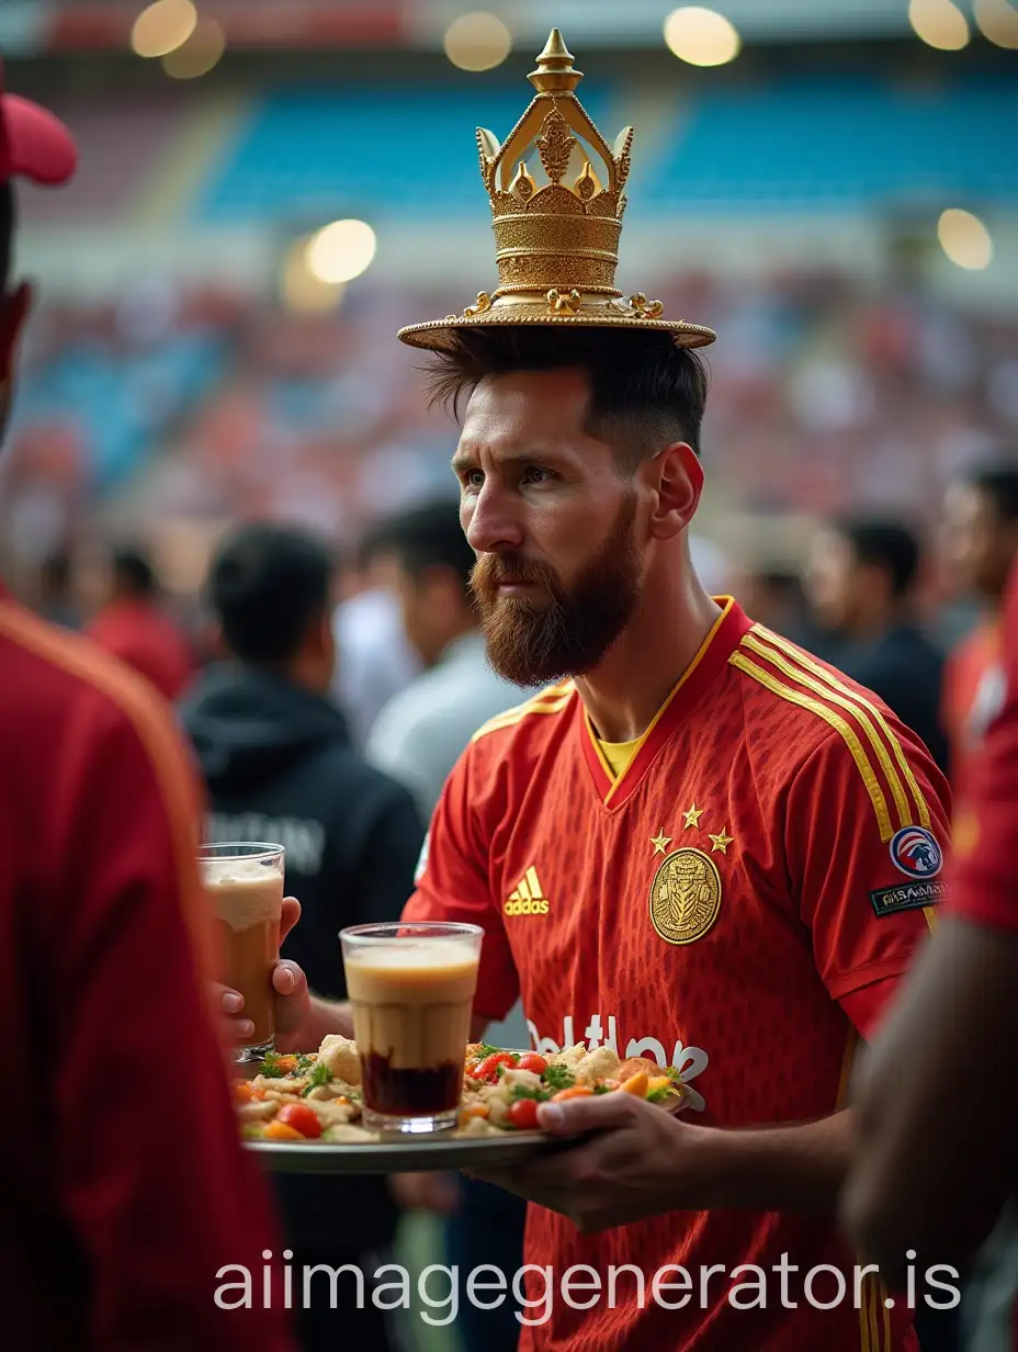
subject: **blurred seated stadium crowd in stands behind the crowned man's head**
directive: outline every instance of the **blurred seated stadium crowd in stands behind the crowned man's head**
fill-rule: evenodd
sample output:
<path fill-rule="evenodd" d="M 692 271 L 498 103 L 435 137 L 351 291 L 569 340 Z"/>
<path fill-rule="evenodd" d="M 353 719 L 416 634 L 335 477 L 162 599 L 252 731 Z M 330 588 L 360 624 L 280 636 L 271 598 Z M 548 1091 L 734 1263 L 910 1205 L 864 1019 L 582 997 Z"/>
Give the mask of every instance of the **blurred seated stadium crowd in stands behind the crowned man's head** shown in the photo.
<path fill-rule="evenodd" d="M 907 511 L 1018 431 L 1013 315 L 927 288 L 803 268 L 756 281 L 676 273 L 666 314 L 707 318 L 704 457 L 753 515 Z M 454 429 L 393 341 L 447 296 L 369 280 L 330 314 L 139 284 L 115 304 L 43 307 L 3 469 L 9 566 L 134 521 L 300 521 L 352 544 L 447 481 Z"/>

